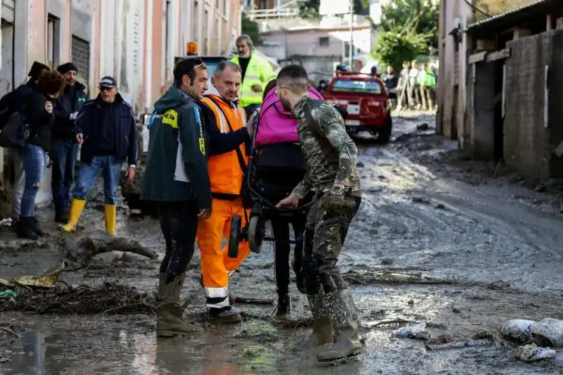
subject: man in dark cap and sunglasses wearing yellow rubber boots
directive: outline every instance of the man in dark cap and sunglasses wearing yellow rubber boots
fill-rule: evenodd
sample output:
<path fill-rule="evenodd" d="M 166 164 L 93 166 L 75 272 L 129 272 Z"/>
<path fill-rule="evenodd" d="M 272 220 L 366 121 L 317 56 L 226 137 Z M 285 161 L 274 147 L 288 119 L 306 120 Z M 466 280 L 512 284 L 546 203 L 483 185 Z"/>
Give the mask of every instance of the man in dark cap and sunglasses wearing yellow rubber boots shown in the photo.
<path fill-rule="evenodd" d="M 137 127 L 129 103 L 118 94 L 113 77 L 100 80 L 100 94 L 87 101 L 75 122 L 80 150 L 80 168 L 72 190 L 69 220 L 61 229 L 74 231 L 89 191 L 102 171 L 106 233 L 115 236 L 116 207 L 121 166 L 127 159 L 127 177 L 132 179 L 137 165 Z"/>

